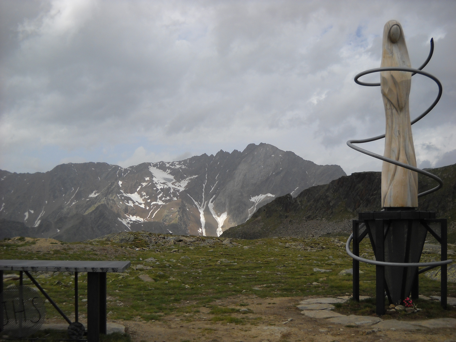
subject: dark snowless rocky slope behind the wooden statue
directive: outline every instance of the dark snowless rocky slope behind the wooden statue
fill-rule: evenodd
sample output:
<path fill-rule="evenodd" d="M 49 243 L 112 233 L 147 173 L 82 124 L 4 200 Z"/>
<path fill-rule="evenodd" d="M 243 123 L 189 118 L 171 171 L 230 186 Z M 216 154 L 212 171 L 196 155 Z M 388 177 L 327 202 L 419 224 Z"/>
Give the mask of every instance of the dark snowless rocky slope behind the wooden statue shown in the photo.
<path fill-rule="evenodd" d="M 448 219 L 448 241 L 456 241 L 456 164 L 429 170 L 444 186 L 419 198 L 419 209 Z M 436 182 L 419 175 L 420 192 Z M 359 172 L 342 176 L 329 184 L 310 187 L 293 198 L 275 198 L 261 207 L 247 222 L 223 232 L 228 238 L 274 236 L 318 236 L 352 231 L 351 219 L 358 212 L 381 210 L 381 172 Z"/>

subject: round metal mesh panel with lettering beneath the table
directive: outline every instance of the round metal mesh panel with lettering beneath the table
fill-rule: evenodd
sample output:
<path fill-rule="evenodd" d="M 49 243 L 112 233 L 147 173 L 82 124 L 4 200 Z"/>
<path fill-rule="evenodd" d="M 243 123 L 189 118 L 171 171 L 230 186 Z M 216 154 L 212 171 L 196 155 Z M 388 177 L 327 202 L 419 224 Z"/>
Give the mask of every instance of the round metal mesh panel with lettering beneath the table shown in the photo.
<path fill-rule="evenodd" d="M 27 286 L 13 286 L 3 291 L 2 334 L 10 337 L 27 337 L 43 324 L 46 309 L 41 296 Z"/>

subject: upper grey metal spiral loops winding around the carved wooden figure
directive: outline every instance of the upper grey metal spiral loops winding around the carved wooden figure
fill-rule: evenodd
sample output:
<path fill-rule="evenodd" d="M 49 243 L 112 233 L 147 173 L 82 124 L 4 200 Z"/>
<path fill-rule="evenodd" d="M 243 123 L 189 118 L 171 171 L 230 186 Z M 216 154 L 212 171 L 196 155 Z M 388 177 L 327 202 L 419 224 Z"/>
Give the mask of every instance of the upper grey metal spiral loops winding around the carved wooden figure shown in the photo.
<path fill-rule="evenodd" d="M 423 69 L 427 63 L 430 61 L 430 58 L 432 57 L 432 54 L 434 52 L 434 39 L 431 38 L 430 40 L 430 52 L 429 52 L 429 56 L 427 57 L 426 61 L 423 63 L 423 65 L 421 65 L 418 69 L 414 69 L 414 68 L 410 68 L 410 67 L 378 67 L 378 68 L 375 68 L 375 69 L 370 69 L 370 70 L 366 70 L 366 71 L 363 71 L 362 73 L 358 73 L 358 75 L 355 76 L 355 82 L 358 83 L 359 85 L 363 85 L 363 86 L 367 86 L 367 87 L 378 87 L 380 86 L 380 83 L 366 83 L 366 82 L 361 82 L 358 80 L 358 78 L 360 78 L 361 76 L 364 76 L 364 75 L 367 75 L 367 74 L 370 74 L 370 73 L 378 73 L 378 72 L 381 72 L 381 71 L 408 71 L 408 72 L 411 72 L 412 73 L 412 76 L 414 76 L 415 74 L 420 74 L 420 75 L 424 75 L 430 79 L 432 79 L 435 83 L 437 83 L 437 86 L 439 87 L 439 93 L 437 95 L 437 97 L 435 98 L 434 102 L 430 105 L 430 107 L 428 109 L 426 109 L 421 115 L 419 115 L 416 119 L 412 120 L 410 122 L 410 124 L 415 124 L 415 122 L 418 122 L 420 119 L 423 119 L 426 114 L 428 114 L 434 107 L 435 105 L 437 104 L 437 102 L 439 102 L 440 100 L 440 97 L 442 96 L 442 84 L 440 83 L 440 81 L 433 75 L 431 75 L 430 73 L 426 73 L 425 71 L 422 71 L 421 69 Z M 347 145 L 349 147 L 351 147 L 353 150 L 357 150 L 358 152 L 361 152 L 361 153 L 364 153 L 366 155 L 370 155 L 371 157 L 374 157 L 374 158 L 377 158 L 377 159 L 380 159 L 382 161 L 386 161 L 386 162 L 389 162 L 391 164 L 395 164 L 397 166 L 402 166 L 404 167 L 405 169 L 409 169 L 409 170 L 412 170 L 412 171 L 416 171 L 418 173 L 421 173 L 422 175 L 425 175 L 425 176 L 428 176 L 432 179 L 434 179 L 435 181 L 437 181 L 439 183 L 439 185 L 437 185 L 436 187 L 430 189 L 430 190 L 427 190 L 425 192 L 421 192 L 418 194 L 418 197 L 421 197 L 421 196 L 425 196 L 425 195 L 428 195 L 432 192 L 435 192 L 437 190 L 439 190 L 442 186 L 443 186 L 443 181 L 433 175 L 432 173 L 430 172 L 427 172 L 427 171 L 424 171 L 424 170 L 421 170 L 419 169 L 418 167 L 415 167 L 415 166 L 411 166 L 409 164 L 405 164 L 405 163 L 402 163 L 400 161 L 396 161 L 394 159 L 391 159 L 391 158 L 387 158 L 387 157 L 384 157 L 383 155 L 378 155 L 376 153 L 373 153 L 371 151 L 368 151 L 368 150 L 364 150 L 362 149 L 361 147 L 358 147 L 358 146 L 355 146 L 353 144 L 362 144 L 362 143 L 366 143 L 366 142 L 370 142 L 370 141 L 375 141 L 375 140 L 379 140 L 379 139 L 382 139 L 384 138 L 385 135 L 382 134 L 382 135 L 378 135 L 376 137 L 373 137 L 373 138 L 368 138 L 368 139 L 361 139 L 361 140 L 348 140 L 347 141 Z"/>

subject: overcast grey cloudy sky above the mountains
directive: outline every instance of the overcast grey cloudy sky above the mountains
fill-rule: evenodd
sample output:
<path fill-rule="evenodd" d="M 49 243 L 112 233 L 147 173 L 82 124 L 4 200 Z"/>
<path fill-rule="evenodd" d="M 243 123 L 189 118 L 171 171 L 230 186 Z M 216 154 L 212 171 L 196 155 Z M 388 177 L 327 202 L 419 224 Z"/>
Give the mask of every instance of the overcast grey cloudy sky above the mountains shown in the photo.
<path fill-rule="evenodd" d="M 348 139 L 384 133 L 384 24 L 443 84 L 413 126 L 418 166 L 456 162 L 455 1 L 0 0 L 0 169 L 173 161 L 260 142 L 347 174 L 381 162 Z M 378 82 L 379 75 L 365 80 Z M 410 113 L 434 100 L 416 75 Z M 383 154 L 383 140 L 364 144 Z"/>

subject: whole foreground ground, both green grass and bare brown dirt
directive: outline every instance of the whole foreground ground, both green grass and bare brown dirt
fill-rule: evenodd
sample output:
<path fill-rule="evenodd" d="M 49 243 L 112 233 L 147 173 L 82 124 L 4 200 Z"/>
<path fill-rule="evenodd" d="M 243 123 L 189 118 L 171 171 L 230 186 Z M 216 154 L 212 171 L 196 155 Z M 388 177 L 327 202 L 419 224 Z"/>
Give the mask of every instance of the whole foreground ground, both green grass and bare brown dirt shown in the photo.
<path fill-rule="evenodd" d="M 412 323 L 395 330 L 374 326 L 378 319 L 375 321 L 372 310 L 355 312 L 369 316 L 371 324 L 333 322 L 331 318 L 316 318 L 321 315 L 302 314 L 303 309 L 297 307 L 301 301 L 351 294 L 352 262 L 345 253 L 344 237 L 235 240 L 134 232 L 72 244 L 14 238 L 3 241 L 0 247 L 0 259 L 131 260 L 124 273 L 108 275 L 107 301 L 108 321 L 125 326 L 134 342 L 449 342 L 456 328 L 451 326 L 456 311 L 443 312 L 438 301 L 431 303 L 432 307 L 418 302 L 423 310 L 410 315 L 381 317 L 383 322 L 409 322 L 427 320 L 432 314 L 446 322 L 434 328 Z M 364 257 L 373 257 L 367 240 L 361 247 Z M 438 252 L 435 245 L 426 244 L 423 261 L 440 259 Z M 372 296 L 375 267 L 363 264 L 362 271 L 362 293 Z M 74 320 L 74 276 L 68 272 L 36 272 L 35 277 Z M 79 275 L 82 322 L 86 321 L 86 277 Z M 5 287 L 16 284 L 17 273 L 16 278 L 5 274 L 4 279 Z M 31 285 L 26 280 L 24 284 Z M 448 286 L 449 295 L 455 296 L 454 283 Z M 439 290 L 438 281 L 420 277 L 421 294 L 438 296 Z M 47 310 L 46 323 L 64 323 L 52 307 Z M 339 316 L 352 314 L 351 309 L 341 310 L 334 309 Z M 409 329 L 410 324 L 413 329 Z"/>

